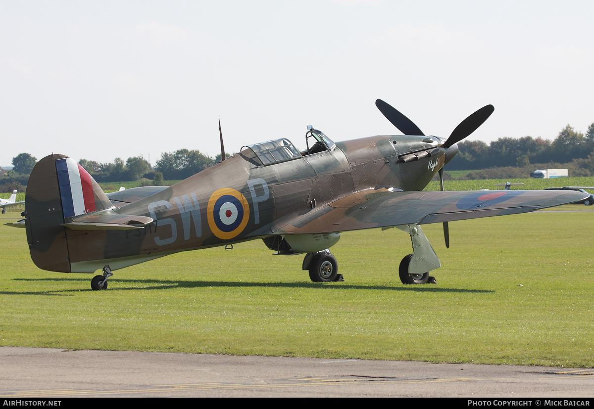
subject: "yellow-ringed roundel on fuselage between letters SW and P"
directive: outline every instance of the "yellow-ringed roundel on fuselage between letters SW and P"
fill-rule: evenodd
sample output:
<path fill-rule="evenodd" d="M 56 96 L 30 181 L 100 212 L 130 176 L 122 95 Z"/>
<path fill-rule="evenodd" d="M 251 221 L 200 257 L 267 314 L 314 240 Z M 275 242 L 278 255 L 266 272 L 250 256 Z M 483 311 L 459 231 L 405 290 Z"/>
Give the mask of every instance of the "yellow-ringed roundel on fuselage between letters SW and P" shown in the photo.
<path fill-rule="evenodd" d="M 215 191 L 208 200 L 208 226 L 219 239 L 228 240 L 241 233 L 249 220 L 249 204 L 235 189 Z"/>

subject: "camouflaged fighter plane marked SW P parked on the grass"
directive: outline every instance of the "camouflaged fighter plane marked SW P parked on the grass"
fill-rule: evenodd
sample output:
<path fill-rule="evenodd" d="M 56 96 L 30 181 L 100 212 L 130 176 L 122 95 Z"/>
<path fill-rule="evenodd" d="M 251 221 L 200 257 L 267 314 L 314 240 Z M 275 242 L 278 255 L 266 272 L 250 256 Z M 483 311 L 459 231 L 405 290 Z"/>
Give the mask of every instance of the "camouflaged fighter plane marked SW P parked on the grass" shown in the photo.
<path fill-rule="evenodd" d="M 278 255 L 304 253 L 312 281 L 337 281 L 329 248 L 341 232 L 398 227 L 413 253 L 400 263 L 405 284 L 426 283 L 441 267 L 421 228 L 448 221 L 525 213 L 571 203 L 575 191 L 443 191 L 443 167 L 456 143 L 493 112 L 487 105 L 449 138 L 425 136 L 387 103 L 377 107 L 404 135 L 333 142 L 308 127 L 307 149 L 289 139 L 246 145 L 238 154 L 176 185 L 103 193 L 72 158 L 40 160 L 27 185 L 24 226 L 31 258 L 49 271 L 103 269 L 91 288 L 107 287 L 113 270 L 173 253 L 261 239 Z M 221 156 L 225 158 L 224 150 Z M 441 191 L 422 192 L 438 173 Z"/>

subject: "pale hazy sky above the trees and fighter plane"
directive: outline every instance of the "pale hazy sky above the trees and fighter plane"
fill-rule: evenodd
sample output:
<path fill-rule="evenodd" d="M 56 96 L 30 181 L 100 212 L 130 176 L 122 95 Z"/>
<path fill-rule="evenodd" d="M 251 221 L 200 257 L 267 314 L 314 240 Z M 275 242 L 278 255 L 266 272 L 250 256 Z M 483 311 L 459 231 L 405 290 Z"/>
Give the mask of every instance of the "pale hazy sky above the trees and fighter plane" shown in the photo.
<path fill-rule="evenodd" d="M 0 0 L 0 166 L 225 150 L 312 125 L 400 134 L 390 103 L 447 138 L 554 139 L 594 122 L 592 1 Z"/>

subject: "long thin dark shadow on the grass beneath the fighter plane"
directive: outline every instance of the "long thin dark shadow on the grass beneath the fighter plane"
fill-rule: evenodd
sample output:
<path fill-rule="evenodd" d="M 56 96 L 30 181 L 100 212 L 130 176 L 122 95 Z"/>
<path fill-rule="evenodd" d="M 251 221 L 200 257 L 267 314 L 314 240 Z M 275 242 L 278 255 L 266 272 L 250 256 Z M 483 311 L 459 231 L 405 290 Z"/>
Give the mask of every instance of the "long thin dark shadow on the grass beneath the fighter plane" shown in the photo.
<path fill-rule="evenodd" d="M 14 281 L 86 281 L 84 278 L 13 278 Z M 340 284 L 340 286 L 326 286 L 314 283 L 254 283 L 251 281 L 175 281 L 175 280 L 117 280 L 120 283 L 144 284 L 147 287 L 119 287 L 115 290 L 166 290 L 173 288 L 199 288 L 199 287 L 271 287 L 271 288 L 317 288 L 319 290 L 394 290 L 394 291 L 415 291 L 431 293 L 495 293 L 493 290 L 472 290 L 468 288 L 438 288 L 438 287 L 388 287 L 388 286 L 358 286 L 356 284 Z M 80 291 L 93 291 L 90 288 L 84 290 L 55 290 L 55 291 L 0 291 L 0 294 L 7 295 L 32 295 L 32 294 L 53 294 Z M 58 294 L 55 294 L 58 295 Z M 65 294 L 63 294 L 65 295 Z"/>

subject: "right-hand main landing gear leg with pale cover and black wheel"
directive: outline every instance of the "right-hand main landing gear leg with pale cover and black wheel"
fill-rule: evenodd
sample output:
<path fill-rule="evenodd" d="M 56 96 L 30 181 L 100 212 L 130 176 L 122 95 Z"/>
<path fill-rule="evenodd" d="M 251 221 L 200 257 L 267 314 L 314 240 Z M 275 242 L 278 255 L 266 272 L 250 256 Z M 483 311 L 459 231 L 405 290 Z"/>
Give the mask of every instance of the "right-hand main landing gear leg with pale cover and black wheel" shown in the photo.
<path fill-rule="evenodd" d="M 421 226 L 407 224 L 396 226 L 410 234 L 413 254 L 407 255 L 400 262 L 398 273 L 402 284 L 435 284 L 435 277 L 429 277 L 429 271 L 441 267 L 440 259 L 429 244 Z"/>

